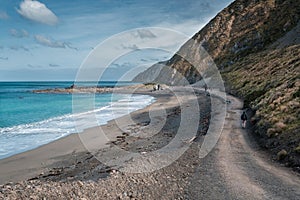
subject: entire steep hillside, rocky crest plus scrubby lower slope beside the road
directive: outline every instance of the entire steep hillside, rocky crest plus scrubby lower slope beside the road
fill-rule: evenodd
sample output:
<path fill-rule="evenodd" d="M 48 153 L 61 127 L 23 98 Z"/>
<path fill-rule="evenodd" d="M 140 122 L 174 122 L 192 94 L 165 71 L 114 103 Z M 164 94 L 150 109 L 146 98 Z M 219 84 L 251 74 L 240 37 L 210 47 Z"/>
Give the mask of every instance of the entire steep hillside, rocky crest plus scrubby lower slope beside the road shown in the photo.
<path fill-rule="evenodd" d="M 206 76 L 201 70 L 210 67 L 195 65 L 203 63 L 203 47 L 227 91 L 256 111 L 252 122 L 262 145 L 274 156 L 285 150 L 280 159 L 299 167 L 299 19 L 299 0 L 236 0 L 187 41 L 154 81 L 176 85 L 201 80 Z"/>

